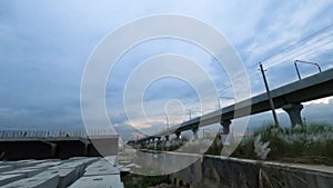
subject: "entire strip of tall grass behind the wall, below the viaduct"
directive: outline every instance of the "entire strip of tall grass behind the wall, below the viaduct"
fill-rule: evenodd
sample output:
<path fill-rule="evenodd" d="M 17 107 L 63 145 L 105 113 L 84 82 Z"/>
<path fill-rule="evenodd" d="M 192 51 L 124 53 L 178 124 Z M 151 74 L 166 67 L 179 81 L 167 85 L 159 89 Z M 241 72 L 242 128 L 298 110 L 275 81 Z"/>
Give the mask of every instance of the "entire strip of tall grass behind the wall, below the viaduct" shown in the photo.
<path fill-rule="evenodd" d="M 333 165 L 333 126 L 319 123 L 295 128 L 264 126 L 252 136 L 244 137 L 231 157 L 262 160 L 262 156 L 258 154 L 260 149 L 254 144 L 258 138 L 260 138 L 259 147 L 265 147 L 260 149 L 269 151 L 264 155 L 265 160 Z M 198 154 L 198 148 L 200 152 L 204 152 L 201 151 L 202 148 L 208 148 L 206 141 L 202 139 L 188 144 L 185 148 L 182 148 L 188 142 L 185 139 L 172 142 L 168 149 L 159 147 L 157 149 L 173 151 L 181 148 L 183 152 Z M 153 145 L 142 148 L 154 149 Z M 204 154 L 220 156 L 222 148 L 221 138 L 216 136 Z"/>

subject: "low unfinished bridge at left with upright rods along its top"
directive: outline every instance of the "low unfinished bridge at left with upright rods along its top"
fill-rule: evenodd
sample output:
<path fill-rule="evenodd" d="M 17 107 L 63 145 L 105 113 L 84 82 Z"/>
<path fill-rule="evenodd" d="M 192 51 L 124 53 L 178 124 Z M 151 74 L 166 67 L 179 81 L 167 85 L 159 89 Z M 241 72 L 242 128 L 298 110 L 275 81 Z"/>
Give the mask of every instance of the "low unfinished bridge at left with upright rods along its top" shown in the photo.
<path fill-rule="evenodd" d="M 88 135 L 85 131 L 65 130 L 1 130 L 0 160 L 68 159 L 118 154 L 118 135 L 108 130 Z"/>

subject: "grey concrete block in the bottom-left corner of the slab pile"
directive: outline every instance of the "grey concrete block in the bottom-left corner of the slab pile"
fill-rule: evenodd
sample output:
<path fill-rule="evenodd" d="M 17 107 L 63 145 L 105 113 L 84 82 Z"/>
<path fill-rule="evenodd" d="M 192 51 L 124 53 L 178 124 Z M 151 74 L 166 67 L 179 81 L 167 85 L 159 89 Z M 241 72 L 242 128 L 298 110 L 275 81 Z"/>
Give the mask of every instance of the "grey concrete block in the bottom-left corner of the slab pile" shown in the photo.
<path fill-rule="evenodd" d="M 57 174 L 42 172 L 31 178 L 21 179 L 2 188 L 57 188 L 59 176 Z"/>

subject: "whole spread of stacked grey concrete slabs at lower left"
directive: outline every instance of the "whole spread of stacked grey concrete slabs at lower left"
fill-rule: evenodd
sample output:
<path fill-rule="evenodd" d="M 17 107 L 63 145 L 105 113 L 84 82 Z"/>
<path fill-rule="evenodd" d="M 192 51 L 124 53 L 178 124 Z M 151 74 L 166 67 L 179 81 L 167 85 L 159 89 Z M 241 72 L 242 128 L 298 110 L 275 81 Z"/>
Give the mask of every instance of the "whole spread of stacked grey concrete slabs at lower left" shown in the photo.
<path fill-rule="evenodd" d="M 115 157 L 78 157 L 68 160 L 0 161 L 0 187 L 67 188 L 123 187 Z"/>

